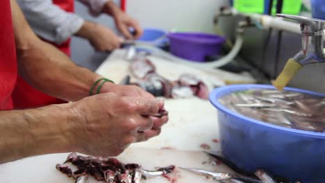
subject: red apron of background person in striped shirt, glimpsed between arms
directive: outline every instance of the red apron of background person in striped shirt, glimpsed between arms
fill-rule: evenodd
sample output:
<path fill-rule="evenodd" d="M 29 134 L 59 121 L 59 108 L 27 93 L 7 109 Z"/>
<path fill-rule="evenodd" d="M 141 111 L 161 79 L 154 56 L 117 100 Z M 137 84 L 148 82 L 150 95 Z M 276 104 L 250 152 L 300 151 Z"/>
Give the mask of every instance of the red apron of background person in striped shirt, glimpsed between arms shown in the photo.
<path fill-rule="evenodd" d="M 53 0 L 53 3 L 67 12 L 74 12 L 74 0 Z M 60 45 L 56 45 L 54 43 L 51 44 L 58 47 L 58 49 L 70 56 L 70 39 Z M 65 101 L 58 98 L 53 98 L 52 96 L 43 94 L 37 89 L 34 89 L 20 76 L 17 78 L 17 85 L 12 93 L 12 98 L 15 109 L 40 107 L 55 103 L 65 103 Z"/>

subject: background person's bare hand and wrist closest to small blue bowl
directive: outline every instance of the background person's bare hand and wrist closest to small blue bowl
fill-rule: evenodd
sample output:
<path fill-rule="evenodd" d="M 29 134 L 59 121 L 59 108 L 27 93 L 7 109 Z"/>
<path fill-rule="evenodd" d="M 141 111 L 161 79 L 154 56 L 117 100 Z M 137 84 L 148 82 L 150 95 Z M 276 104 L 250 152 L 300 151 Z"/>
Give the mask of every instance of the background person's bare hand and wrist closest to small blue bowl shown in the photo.
<path fill-rule="evenodd" d="M 108 1 L 103 7 L 103 12 L 106 12 L 108 15 L 112 15 L 115 21 L 115 25 L 119 29 L 119 31 L 126 37 L 126 39 L 138 39 L 143 30 L 135 19 L 126 15 L 126 13 L 122 12 L 112 1 Z M 132 35 L 130 33 L 129 28 L 133 28 L 135 30 L 135 34 Z"/>

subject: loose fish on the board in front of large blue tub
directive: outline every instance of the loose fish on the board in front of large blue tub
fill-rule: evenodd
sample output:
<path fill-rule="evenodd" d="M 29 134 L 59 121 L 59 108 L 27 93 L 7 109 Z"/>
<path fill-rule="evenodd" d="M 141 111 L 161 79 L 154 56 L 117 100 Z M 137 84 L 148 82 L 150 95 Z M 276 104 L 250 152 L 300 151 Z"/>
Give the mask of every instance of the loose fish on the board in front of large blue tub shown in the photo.
<path fill-rule="evenodd" d="M 203 177 L 206 177 L 207 179 L 215 180 L 221 183 L 292 183 L 284 177 L 269 175 L 262 169 L 258 169 L 254 173 L 247 173 L 241 168 L 235 166 L 235 164 L 232 162 L 228 161 L 225 157 L 222 157 L 222 155 L 217 155 L 217 153 L 207 151 L 206 153 L 213 157 L 216 161 L 222 162 L 228 166 L 228 168 L 231 168 L 235 173 L 219 173 L 206 171 L 199 168 L 179 168 L 192 173 L 197 173 Z M 296 181 L 294 183 L 300 183 L 300 181 Z"/>

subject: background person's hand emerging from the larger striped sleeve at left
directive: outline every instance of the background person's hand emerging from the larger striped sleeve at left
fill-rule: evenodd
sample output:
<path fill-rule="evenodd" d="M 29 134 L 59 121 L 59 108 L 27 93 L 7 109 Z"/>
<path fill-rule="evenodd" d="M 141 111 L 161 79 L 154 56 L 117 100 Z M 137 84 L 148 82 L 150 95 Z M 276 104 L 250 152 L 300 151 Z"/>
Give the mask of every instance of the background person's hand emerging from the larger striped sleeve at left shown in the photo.
<path fill-rule="evenodd" d="M 113 30 L 90 21 L 85 21 L 76 35 L 87 39 L 97 51 L 113 51 L 118 49 L 123 41 Z"/>

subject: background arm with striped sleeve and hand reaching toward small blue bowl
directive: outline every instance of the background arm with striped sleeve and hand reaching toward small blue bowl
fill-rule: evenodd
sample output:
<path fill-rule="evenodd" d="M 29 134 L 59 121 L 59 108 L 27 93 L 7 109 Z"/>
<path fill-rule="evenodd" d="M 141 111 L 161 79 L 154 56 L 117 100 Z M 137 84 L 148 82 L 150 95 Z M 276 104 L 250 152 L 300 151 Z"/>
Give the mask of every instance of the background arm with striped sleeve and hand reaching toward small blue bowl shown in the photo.
<path fill-rule="evenodd" d="M 112 0 L 79 0 L 90 8 L 90 14 L 97 16 L 106 13 L 113 17 L 118 30 L 126 39 L 138 39 L 143 30 L 135 19 L 128 16 Z M 135 34 L 131 34 L 129 28 L 133 28 Z"/>

